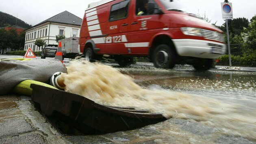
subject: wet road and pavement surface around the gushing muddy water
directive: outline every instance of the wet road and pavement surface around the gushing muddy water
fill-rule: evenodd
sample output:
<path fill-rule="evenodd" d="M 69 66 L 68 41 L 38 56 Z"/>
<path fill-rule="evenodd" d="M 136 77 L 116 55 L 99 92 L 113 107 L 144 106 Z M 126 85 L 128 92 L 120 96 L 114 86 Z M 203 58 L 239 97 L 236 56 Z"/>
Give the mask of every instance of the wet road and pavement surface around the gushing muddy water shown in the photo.
<path fill-rule="evenodd" d="M 64 60 L 64 64 L 68 66 L 69 63 Z M 210 89 L 214 85 L 208 83 L 214 80 L 222 80 L 226 88 L 220 87 L 220 92 L 228 91 L 230 95 L 236 95 L 242 91 L 241 93 L 248 97 L 256 95 L 254 83 L 250 85 L 254 89 L 243 85 L 250 80 L 256 80 L 256 72 L 253 72 L 254 68 L 244 68 L 241 71 L 213 69 L 208 72 L 195 72 L 191 66 L 176 66 L 174 70 L 159 70 L 152 67 L 152 64 L 145 63 L 133 65 L 131 68 L 120 68 L 116 64 L 110 65 L 123 74 L 133 77 L 135 83 L 145 88 L 158 85 L 174 91 L 196 94 L 211 93 Z M 197 79 L 202 80 L 202 82 L 195 83 Z M 232 84 L 228 85 L 228 83 Z M 216 87 L 219 88 L 218 85 Z M 230 88 L 227 89 L 227 87 Z M 193 133 L 191 135 L 193 136 L 192 140 L 183 141 L 188 137 L 177 135 L 175 131 L 167 133 L 163 127 Z M 67 135 L 53 126 L 52 122 L 41 114 L 40 110 L 35 108 L 30 97 L 15 94 L 0 97 L 0 143 L 3 144 L 256 143 L 255 140 L 225 135 L 214 136 L 214 138 L 216 137 L 214 139 L 212 134 L 213 131 L 210 126 L 202 126 L 199 123 L 183 119 L 169 119 L 157 125 L 149 125 L 131 131 L 120 131 L 98 136 Z M 199 139 L 200 142 L 197 137 L 202 137 L 202 139 Z"/>

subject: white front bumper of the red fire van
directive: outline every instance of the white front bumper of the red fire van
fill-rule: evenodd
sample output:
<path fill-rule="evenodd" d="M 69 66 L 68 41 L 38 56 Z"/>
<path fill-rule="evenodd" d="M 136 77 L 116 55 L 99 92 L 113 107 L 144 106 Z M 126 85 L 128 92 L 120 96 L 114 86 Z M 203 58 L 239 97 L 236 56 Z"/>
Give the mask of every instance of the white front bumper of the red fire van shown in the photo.
<path fill-rule="evenodd" d="M 226 44 L 207 40 L 176 39 L 173 40 L 180 56 L 215 59 L 226 53 Z"/>

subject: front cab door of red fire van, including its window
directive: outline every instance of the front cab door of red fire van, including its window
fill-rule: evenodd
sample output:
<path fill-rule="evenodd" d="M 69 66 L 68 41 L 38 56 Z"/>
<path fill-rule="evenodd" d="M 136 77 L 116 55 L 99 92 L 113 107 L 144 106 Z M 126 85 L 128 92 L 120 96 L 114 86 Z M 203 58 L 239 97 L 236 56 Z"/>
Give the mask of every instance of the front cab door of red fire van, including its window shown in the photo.
<path fill-rule="evenodd" d="M 146 10 L 149 5 L 159 8 L 154 0 L 134 0 L 133 2 L 134 9 L 132 9 L 133 14 L 129 23 L 129 43 L 126 44 L 126 48 L 130 49 L 130 53 L 146 55 L 148 54 L 150 39 L 161 30 L 162 15 L 153 14 Z"/>

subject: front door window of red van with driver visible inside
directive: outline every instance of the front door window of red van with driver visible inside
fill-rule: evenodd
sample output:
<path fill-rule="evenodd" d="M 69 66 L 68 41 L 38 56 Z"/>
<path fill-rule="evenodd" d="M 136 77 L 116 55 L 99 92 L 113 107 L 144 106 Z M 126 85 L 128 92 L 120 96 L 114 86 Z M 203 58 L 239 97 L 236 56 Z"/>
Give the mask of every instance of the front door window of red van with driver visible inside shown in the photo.
<path fill-rule="evenodd" d="M 136 0 L 135 13 L 137 14 L 137 16 L 154 14 L 154 11 L 148 11 L 150 5 L 153 6 L 155 9 L 159 9 L 159 6 L 154 0 Z"/>

